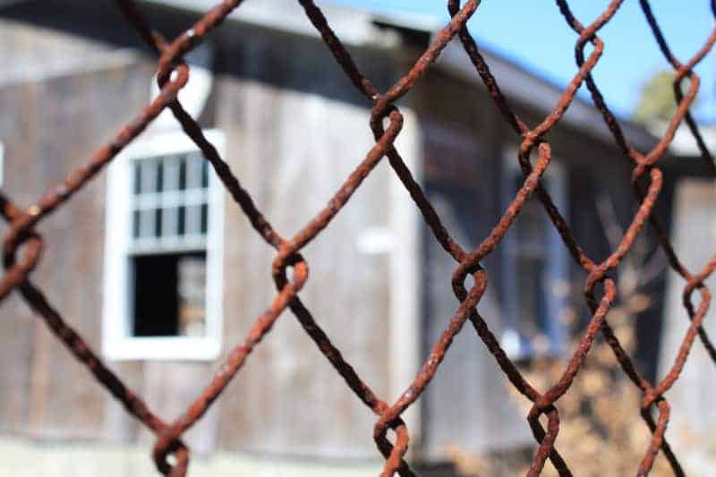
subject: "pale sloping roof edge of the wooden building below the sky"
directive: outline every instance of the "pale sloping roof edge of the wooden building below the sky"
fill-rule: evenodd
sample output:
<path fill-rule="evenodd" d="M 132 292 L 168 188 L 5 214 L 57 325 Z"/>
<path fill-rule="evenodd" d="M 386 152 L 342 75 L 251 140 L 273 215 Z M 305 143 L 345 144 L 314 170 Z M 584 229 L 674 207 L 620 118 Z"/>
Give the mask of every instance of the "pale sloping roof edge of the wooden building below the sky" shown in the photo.
<path fill-rule="evenodd" d="M 5 5 L 20 4 L 22 0 L 0 0 L 0 9 Z M 206 13 L 217 4 L 217 0 L 141 0 L 142 4 L 154 5 L 192 14 Z M 434 15 L 415 13 L 375 13 L 345 5 L 323 3 L 321 11 L 328 18 L 330 27 L 348 47 L 400 48 L 401 33 L 419 33 L 432 38 L 445 21 Z M 287 33 L 320 38 L 320 33 L 308 20 L 303 7 L 296 0 L 244 0 L 240 8 L 229 13 L 226 21 L 279 30 Z M 392 30 L 392 31 L 390 31 Z M 498 55 L 490 48 L 481 47 L 490 70 L 499 81 L 500 89 L 508 100 L 533 108 L 546 115 L 557 104 L 564 88 L 530 72 L 524 67 Z M 469 57 L 459 42 L 452 41 L 439 57 L 436 68 L 462 81 L 479 85 L 482 81 L 475 72 Z M 599 141 L 612 142 L 609 128 L 601 113 L 591 102 L 575 98 L 567 110 L 563 123 L 586 132 Z M 619 118 L 628 141 L 637 149 L 648 150 L 656 144 L 656 138 L 643 127 Z"/>

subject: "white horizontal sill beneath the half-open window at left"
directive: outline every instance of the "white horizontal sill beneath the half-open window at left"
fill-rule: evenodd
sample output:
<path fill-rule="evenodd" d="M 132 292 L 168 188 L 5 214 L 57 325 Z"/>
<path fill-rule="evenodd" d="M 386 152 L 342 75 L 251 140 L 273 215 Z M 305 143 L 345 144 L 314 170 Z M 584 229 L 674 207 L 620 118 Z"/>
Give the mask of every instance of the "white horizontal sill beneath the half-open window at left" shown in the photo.
<path fill-rule="evenodd" d="M 210 337 L 132 337 L 104 346 L 110 361 L 214 361 L 220 351 L 218 340 Z"/>

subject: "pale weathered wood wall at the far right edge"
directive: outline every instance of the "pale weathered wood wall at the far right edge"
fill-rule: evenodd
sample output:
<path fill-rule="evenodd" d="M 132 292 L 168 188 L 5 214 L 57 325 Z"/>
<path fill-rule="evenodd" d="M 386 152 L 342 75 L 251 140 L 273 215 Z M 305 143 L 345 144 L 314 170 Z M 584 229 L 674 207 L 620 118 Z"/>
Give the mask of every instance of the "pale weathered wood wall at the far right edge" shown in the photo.
<path fill-rule="evenodd" d="M 674 205 L 674 228 L 671 240 L 684 266 L 696 273 L 712 259 L 716 243 L 716 184 L 706 179 L 685 179 L 678 183 Z M 716 280 L 706 280 L 713 290 Z M 682 294 L 686 282 L 669 271 L 664 308 L 664 329 L 659 359 L 659 375 L 669 371 L 686 336 L 690 321 L 684 309 Z M 698 290 L 692 295 L 695 307 L 701 302 Z M 713 305 L 706 314 L 703 328 L 716 336 L 716 313 Z M 716 381 L 712 379 L 713 362 L 697 337 L 686 365 L 674 387 L 666 393 L 671 405 L 666 436 L 675 448 L 689 475 L 710 475 L 716 465 L 709 444 L 716 439 L 716 410 L 713 398 Z M 695 445 L 697 444 L 697 445 Z"/>

